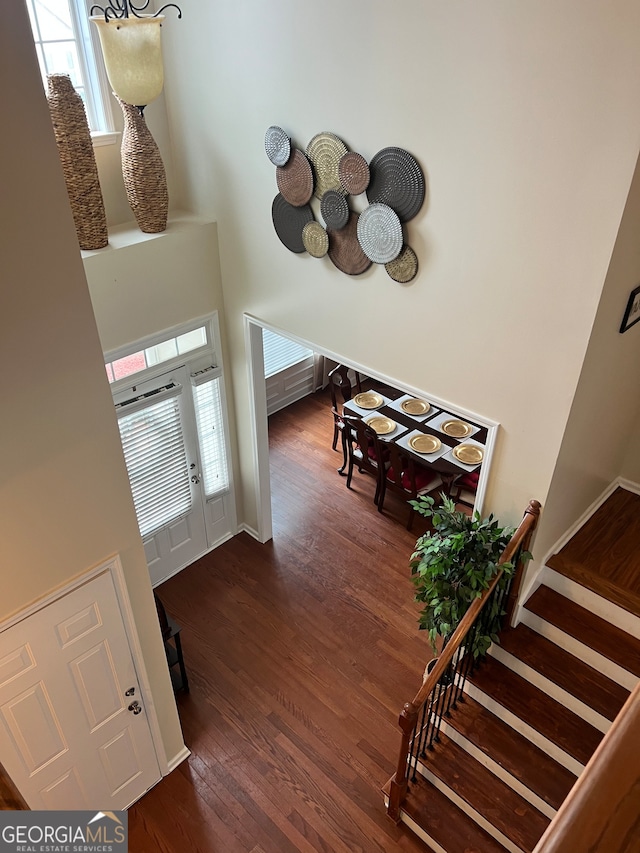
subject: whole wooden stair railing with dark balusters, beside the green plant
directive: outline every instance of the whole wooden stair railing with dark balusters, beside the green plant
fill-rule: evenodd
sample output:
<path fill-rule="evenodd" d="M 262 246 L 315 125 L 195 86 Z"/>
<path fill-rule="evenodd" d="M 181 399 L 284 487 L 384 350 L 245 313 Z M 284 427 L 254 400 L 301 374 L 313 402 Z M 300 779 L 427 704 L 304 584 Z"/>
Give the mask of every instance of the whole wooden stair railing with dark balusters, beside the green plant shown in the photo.
<path fill-rule="evenodd" d="M 499 588 L 503 571 L 497 573 L 489 588 L 471 604 L 439 657 L 431 662 L 422 687 L 400 713 L 398 723 L 402 738 L 396 772 L 390 781 L 387 808 L 387 814 L 396 823 L 401 820 L 409 778 L 417 771 L 419 756 L 437 741 L 442 717 L 448 716 L 458 701 L 463 701 L 462 691 L 473 665 L 473 655 L 466 650 L 473 645 L 476 631 L 486 627 L 488 614 L 492 609 L 489 605 L 493 603 L 494 598 L 498 598 L 498 612 L 504 607 L 504 619 L 511 621 L 524 569 L 520 555 L 528 550 L 539 517 L 540 503 L 532 500 L 525 510 L 520 526 L 498 561 L 498 565 L 516 561 L 511 583 L 506 589 Z"/>

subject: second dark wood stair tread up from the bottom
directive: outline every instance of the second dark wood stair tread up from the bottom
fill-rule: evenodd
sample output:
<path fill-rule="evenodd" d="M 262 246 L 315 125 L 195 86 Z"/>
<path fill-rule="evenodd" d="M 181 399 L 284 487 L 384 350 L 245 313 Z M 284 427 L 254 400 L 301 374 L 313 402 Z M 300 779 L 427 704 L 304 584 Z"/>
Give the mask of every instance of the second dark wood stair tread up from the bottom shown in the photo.
<path fill-rule="evenodd" d="M 440 733 L 423 766 L 521 850 L 533 850 L 549 818 Z"/>

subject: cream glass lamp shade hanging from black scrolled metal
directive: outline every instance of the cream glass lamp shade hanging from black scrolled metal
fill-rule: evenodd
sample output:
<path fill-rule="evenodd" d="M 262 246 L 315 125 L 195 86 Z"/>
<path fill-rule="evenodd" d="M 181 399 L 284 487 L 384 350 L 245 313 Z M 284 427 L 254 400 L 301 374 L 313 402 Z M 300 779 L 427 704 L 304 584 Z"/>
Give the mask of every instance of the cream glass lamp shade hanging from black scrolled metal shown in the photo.
<path fill-rule="evenodd" d="M 160 42 L 164 15 L 109 21 L 93 16 L 91 20 L 98 27 L 107 76 L 116 95 L 139 107 L 157 98 L 164 82 Z"/>

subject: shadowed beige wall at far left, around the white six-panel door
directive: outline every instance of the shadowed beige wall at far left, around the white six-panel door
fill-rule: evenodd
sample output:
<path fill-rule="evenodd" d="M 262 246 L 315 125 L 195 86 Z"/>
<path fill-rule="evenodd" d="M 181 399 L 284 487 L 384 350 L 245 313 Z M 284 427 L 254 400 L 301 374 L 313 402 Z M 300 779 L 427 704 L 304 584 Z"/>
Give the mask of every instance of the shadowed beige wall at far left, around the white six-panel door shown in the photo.
<path fill-rule="evenodd" d="M 120 554 L 167 755 L 166 659 L 26 7 L 0 27 L 0 619 Z"/>

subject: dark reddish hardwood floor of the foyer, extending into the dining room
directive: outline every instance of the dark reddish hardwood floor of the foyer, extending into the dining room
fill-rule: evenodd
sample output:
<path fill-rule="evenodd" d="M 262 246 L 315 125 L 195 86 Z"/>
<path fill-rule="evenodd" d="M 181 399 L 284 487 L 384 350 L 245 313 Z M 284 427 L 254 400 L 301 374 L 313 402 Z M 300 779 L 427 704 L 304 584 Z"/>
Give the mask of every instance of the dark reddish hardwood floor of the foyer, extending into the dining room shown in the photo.
<path fill-rule="evenodd" d="M 327 398 L 270 424 L 274 538 L 241 534 L 157 591 L 183 626 L 191 757 L 130 809 L 132 853 L 396 853 L 397 717 L 430 651 L 408 559 L 420 525 L 347 491 Z M 418 521 L 423 522 L 422 519 Z"/>

